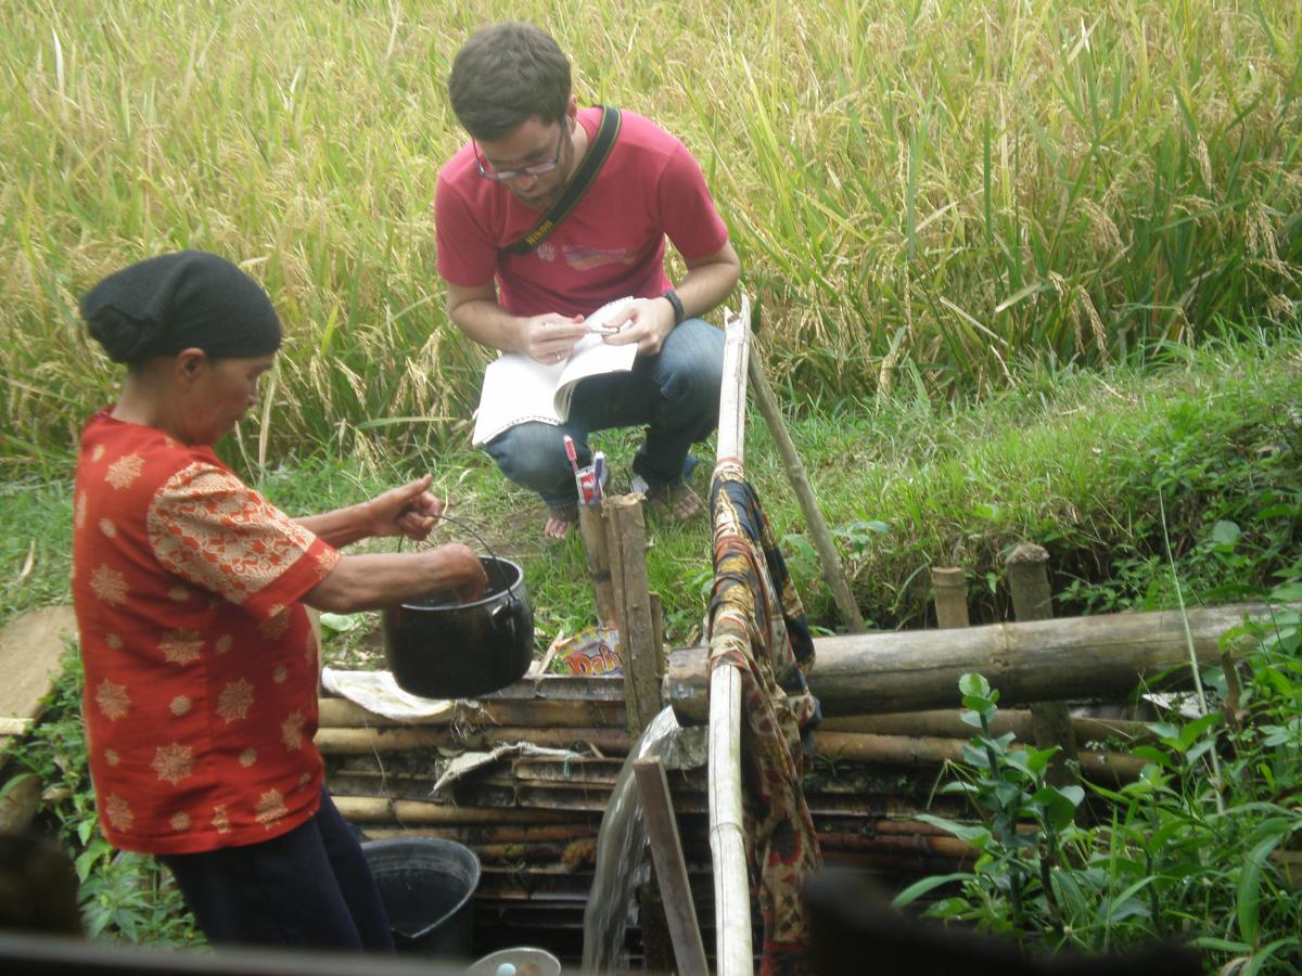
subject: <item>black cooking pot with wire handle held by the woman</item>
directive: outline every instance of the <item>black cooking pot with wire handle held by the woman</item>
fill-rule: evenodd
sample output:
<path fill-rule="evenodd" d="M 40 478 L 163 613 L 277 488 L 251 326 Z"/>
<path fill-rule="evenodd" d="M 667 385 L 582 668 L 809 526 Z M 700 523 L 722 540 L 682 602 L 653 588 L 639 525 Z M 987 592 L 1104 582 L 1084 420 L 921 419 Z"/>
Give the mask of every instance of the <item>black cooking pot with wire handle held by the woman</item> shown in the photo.
<path fill-rule="evenodd" d="M 450 592 L 384 610 L 384 656 L 404 691 L 474 698 L 518 681 L 534 657 L 534 612 L 525 571 L 480 556 L 488 586 L 464 604 Z"/>

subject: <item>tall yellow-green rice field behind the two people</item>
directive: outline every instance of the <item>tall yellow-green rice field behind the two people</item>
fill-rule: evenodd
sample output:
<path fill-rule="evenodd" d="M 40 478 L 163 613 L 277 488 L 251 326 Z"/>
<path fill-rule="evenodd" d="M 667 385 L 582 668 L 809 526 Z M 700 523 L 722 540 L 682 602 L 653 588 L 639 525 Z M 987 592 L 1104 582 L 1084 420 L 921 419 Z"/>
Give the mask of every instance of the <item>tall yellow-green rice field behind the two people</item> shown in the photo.
<path fill-rule="evenodd" d="M 465 445 L 488 354 L 435 271 L 444 79 L 510 17 L 556 35 L 581 103 L 695 152 L 796 400 L 1298 316 L 1295 0 L 7 0 L 0 463 L 66 457 L 112 398 L 81 293 L 180 247 L 241 263 L 286 325 L 250 463 Z"/>

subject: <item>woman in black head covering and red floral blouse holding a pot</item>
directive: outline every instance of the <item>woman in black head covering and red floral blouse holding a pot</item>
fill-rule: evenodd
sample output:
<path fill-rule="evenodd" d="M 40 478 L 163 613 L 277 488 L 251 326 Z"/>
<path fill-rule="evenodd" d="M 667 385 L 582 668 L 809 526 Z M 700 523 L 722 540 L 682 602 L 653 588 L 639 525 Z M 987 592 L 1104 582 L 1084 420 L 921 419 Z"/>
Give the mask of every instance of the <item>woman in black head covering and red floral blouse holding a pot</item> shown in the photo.
<path fill-rule="evenodd" d="M 352 830 L 323 787 L 318 648 L 306 606 L 337 613 L 477 595 L 478 557 L 423 539 L 430 476 L 290 519 L 212 450 L 256 402 L 280 346 L 267 294 L 216 255 L 111 275 L 82 301 L 121 397 L 82 433 L 73 600 L 91 774 L 105 837 L 159 856 L 212 942 L 391 947 Z"/>

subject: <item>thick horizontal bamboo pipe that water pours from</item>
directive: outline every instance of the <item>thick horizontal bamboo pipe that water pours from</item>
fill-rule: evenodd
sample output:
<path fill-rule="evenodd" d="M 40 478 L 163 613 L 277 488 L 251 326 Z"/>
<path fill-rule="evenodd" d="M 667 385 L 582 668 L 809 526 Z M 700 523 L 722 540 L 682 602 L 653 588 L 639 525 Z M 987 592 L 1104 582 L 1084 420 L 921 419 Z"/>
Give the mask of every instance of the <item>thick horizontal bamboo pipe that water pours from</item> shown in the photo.
<path fill-rule="evenodd" d="M 1198 660 L 1219 664 L 1220 636 L 1245 619 L 1264 618 L 1260 604 L 1187 612 L 1117 613 L 1031 623 L 991 623 L 818 638 L 810 688 L 829 717 L 958 708 L 958 678 L 979 671 L 999 690 L 1000 705 L 1032 701 L 1126 699 L 1143 678 L 1163 687 L 1189 685 L 1191 640 Z M 1249 642 L 1238 642 L 1242 649 Z M 699 725 L 708 714 L 706 649 L 669 655 L 665 694 L 678 721 Z"/>

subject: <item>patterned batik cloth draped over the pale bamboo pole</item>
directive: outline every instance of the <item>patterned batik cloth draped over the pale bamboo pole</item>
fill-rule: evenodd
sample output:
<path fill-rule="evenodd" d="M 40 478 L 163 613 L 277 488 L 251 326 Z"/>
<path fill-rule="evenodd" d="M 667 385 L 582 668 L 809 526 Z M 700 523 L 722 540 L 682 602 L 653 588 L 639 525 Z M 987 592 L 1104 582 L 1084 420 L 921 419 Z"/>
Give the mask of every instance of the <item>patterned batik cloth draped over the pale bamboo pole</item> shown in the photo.
<path fill-rule="evenodd" d="M 822 867 L 801 787 L 802 734 L 820 718 L 805 682 L 814 640 L 772 528 L 741 466 L 721 462 L 710 488 L 715 584 L 710 670 L 742 675 L 742 789 L 747 856 L 759 877 L 762 973 L 811 972 L 801 885 Z"/>

